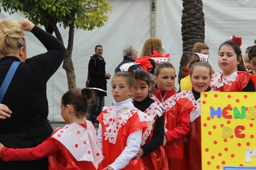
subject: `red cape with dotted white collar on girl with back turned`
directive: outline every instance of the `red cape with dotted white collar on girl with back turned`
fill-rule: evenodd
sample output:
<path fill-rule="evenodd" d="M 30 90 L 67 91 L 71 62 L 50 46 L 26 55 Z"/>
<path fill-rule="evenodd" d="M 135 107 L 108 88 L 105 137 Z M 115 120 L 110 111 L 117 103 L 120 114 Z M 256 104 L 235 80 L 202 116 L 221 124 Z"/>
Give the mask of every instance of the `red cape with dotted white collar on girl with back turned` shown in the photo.
<path fill-rule="evenodd" d="M 87 129 L 76 124 L 69 124 L 60 128 L 50 138 L 60 148 L 67 161 L 66 167 L 58 162 L 58 154 L 48 156 L 49 170 L 76 169 L 85 167 L 90 170 L 102 169 L 99 164 L 103 156 L 97 146 L 96 131 L 92 122 L 86 120 Z M 50 166 L 51 165 L 51 166 Z"/>

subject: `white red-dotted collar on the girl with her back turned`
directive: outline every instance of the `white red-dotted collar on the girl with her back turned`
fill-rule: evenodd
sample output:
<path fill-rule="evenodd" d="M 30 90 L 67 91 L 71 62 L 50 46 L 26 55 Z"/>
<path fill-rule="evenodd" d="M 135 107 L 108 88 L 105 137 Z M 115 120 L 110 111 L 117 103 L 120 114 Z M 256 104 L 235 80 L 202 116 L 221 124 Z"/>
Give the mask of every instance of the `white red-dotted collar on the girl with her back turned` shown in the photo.
<path fill-rule="evenodd" d="M 86 120 L 86 123 L 87 130 L 73 123 L 59 129 L 52 137 L 61 142 L 77 161 L 90 161 L 97 166 L 104 157 L 97 145 L 96 131 L 92 122 Z"/>

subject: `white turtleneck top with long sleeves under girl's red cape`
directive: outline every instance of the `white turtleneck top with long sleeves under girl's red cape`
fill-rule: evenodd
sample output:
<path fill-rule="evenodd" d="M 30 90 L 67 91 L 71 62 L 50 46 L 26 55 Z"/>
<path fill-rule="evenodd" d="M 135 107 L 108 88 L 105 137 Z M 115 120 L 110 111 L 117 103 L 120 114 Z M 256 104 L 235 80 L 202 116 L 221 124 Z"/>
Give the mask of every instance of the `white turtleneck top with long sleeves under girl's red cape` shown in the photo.
<path fill-rule="evenodd" d="M 134 107 L 134 105 L 132 103 L 132 99 L 130 99 L 130 98 L 127 99 L 126 101 L 122 101 L 122 102 L 114 101 L 115 119 L 117 117 L 119 117 L 121 114 L 126 113 L 132 107 Z M 101 153 L 102 153 L 102 140 L 103 140 L 102 126 L 100 123 L 97 141 L 98 141 L 98 145 L 101 150 Z M 136 154 L 138 153 L 138 151 L 140 149 L 141 140 L 142 140 L 142 128 L 134 131 L 133 133 L 131 133 L 128 136 L 127 142 L 126 142 L 126 144 L 127 144 L 126 147 L 124 148 L 122 153 L 115 159 L 115 161 L 108 166 L 112 167 L 114 170 L 119 170 L 119 169 L 123 169 L 124 167 L 126 167 L 126 165 L 128 165 L 130 160 L 132 158 L 134 158 L 134 156 L 136 156 Z M 118 141 L 116 141 L 116 142 L 118 142 Z M 102 168 L 105 168 L 105 167 L 102 167 Z"/>

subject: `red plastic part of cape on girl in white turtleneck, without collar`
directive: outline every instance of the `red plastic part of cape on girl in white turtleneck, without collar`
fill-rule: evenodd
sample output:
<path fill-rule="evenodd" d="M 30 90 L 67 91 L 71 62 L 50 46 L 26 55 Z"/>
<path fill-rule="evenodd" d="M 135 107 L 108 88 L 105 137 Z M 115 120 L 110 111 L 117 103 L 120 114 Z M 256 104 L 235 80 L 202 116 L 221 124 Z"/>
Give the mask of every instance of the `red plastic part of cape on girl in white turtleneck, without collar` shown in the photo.
<path fill-rule="evenodd" d="M 107 108 L 107 107 L 104 107 L 104 108 Z M 113 111 L 113 107 L 108 107 L 108 110 Z M 106 129 L 109 127 L 108 126 L 109 124 L 106 126 L 103 123 L 103 121 L 105 120 L 103 118 L 103 114 L 107 114 L 107 113 L 108 112 L 106 110 L 102 111 L 100 115 L 97 117 L 97 120 L 102 125 L 102 137 L 103 137 L 102 155 L 105 157 L 101 162 L 102 167 L 107 167 L 108 165 L 112 164 L 117 157 L 119 157 L 119 155 L 122 153 L 124 148 L 127 146 L 126 145 L 127 138 L 131 133 L 142 128 L 142 134 L 143 134 L 148 127 L 147 122 L 141 122 L 138 114 L 134 113 L 133 116 L 130 117 L 125 124 L 123 124 L 121 127 L 118 127 L 119 130 L 117 131 L 117 136 L 116 136 L 117 142 L 115 143 L 109 142 L 109 140 L 111 141 L 112 138 L 109 138 L 109 139 L 105 138 L 106 137 L 105 132 L 107 131 Z M 117 119 L 119 119 L 119 117 Z M 119 122 L 117 122 L 117 124 L 119 124 Z M 129 164 L 126 165 L 126 167 L 123 168 L 122 170 L 145 170 L 145 166 L 141 158 L 139 160 L 131 159 Z"/>

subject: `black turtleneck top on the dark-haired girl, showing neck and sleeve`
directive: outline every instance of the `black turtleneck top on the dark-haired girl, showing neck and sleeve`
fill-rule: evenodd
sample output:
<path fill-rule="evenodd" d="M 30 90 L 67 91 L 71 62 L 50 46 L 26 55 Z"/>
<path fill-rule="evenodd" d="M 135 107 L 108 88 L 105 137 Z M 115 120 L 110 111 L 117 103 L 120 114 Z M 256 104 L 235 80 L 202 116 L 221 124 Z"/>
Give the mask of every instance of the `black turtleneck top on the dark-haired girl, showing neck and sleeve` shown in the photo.
<path fill-rule="evenodd" d="M 144 112 L 154 102 L 155 101 L 153 99 L 151 99 L 149 96 L 147 96 L 141 102 L 137 102 L 134 100 L 133 105 L 135 106 L 135 108 Z M 153 130 L 153 136 L 152 136 L 151 140 L 148 143 L 146 143 L 145 145 L 141 146 L 141 148 L 144 151 L 143 156 L 150 154 L 152 151 L 154 151 L 158 147 L 160 147 L 163 143 L 163 138 L 164 138 L 164 115 L 162 115 L 160 117 L 158 117 L 158 115 L 157 115 L 157 119 L 155 121 L 155 127 Z"/>

